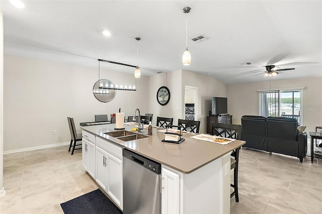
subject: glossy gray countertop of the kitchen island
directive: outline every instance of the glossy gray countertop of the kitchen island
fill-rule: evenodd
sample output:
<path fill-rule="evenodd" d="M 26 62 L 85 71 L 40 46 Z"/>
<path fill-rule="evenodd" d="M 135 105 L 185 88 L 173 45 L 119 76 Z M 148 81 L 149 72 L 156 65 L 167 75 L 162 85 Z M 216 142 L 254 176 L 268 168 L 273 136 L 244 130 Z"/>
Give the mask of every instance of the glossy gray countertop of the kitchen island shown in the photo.
<path fill-rule="evenodd" d="M 185 141 L 181 144 L 165 143 L 165 135 L 161 130 L 164 128 L 154 128 L 153 134 L 148 138 L 133 141 L 121 141 L 104 133 L 114 132 L 115 124 L 81 127 L 104 140 L 112 142 L 120 147 L 127 148 L 144 157 L 167 165 L 182 173 L 191 173 L 200 167 L 210 163 L 217 158 L 231 152 L 244 145 L 245 141 L 236 140 L 226 145 L 196 140 L 190 138 L 195 134 L 185 134 Z M 125 130 L 131 131 L 132 126 L 124 125 Z M 147 132 L 147 129 L 143 130 Z M 138 133 L 140 134 L 140 133 Z"/>

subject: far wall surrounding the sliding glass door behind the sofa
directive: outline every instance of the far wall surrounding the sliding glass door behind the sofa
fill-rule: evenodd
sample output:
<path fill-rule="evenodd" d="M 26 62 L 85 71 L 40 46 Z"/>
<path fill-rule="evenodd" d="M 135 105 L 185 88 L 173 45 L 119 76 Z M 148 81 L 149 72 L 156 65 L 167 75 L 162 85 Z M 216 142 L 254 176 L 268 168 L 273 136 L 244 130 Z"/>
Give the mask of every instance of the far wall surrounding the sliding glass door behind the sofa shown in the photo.
<path fill-rule="evenodd" d="M 278 77 L 278 76 L 277 76 Z M 277 79 L 277 78 L 276 78 Z M 271 80 L 271 88 L 301 87 L 303 90 L 303 126 L 306 132 L 322 125 L 322 77 L 289 80 Z M 249 84 L 227 85 L 228 112 L 233 115 L 233 123 L 240 124 L 243 115 L 258 115 L 257 89 L 269 89 L 269 81 Z"/>

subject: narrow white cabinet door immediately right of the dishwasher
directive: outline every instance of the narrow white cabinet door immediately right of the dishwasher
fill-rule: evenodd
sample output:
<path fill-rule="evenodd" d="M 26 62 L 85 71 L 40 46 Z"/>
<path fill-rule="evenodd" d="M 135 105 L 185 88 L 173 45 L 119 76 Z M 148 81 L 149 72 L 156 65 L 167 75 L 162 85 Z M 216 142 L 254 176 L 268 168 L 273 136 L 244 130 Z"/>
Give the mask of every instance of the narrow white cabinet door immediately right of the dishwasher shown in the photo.
<path fill-rule="evenodd" d="M 180 175 L 162 167 L 162 213 L 180 211 Z"/>

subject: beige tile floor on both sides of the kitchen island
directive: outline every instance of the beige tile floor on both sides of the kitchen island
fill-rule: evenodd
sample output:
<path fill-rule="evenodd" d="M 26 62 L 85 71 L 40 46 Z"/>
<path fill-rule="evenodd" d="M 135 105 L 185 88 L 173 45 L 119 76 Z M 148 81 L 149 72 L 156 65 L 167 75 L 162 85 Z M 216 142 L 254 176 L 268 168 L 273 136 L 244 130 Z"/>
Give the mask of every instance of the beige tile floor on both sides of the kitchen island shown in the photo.
<path fill-rule="evenodd" d="M 68 146 L 4 155 L 0 213 L 63 213 L 60 203 L 98 188 Z M 318 162 L 319 160 L 319 162 Z M 322 213 L 322 159 L 240 150 L 239 202 L 231 213 Z M 320 164 L 320 165 L 319 165 Z"/>

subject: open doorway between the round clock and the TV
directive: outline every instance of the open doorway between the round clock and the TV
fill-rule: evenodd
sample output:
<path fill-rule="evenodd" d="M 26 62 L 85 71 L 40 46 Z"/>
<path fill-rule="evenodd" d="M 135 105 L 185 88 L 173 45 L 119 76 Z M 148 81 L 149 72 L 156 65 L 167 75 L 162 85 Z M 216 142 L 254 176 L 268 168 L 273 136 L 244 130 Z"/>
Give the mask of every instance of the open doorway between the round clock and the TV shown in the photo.
<path fill-rule="evenodd" d="M 185 85 L 184 118 L 189 121 L 198 120 L 198 88 Z"/>

